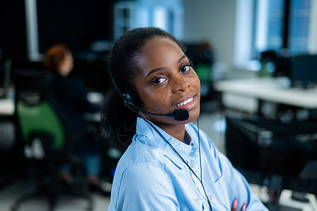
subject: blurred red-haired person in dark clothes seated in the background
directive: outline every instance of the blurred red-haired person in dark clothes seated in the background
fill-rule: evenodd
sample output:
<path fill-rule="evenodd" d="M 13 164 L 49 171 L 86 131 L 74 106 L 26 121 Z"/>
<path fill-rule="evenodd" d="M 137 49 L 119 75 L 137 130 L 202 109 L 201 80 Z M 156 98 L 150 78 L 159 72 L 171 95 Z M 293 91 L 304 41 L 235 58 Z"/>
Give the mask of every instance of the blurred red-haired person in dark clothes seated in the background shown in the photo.
<path fill-rule="evenodd" d="M 91 191 L 101 190 L 100 146 L 98 130 L 84 119 L 84 113 L 97 113 L 99 106 L 91 104 L 86 98 L 86 88 L 79 79 L 69 77 L 74 66 L 72 52 L 63 44 L 51 46 L 46 51 L 44 67 L 53 72 L 52 89 L 60 106 L 65 110 L 72 129 L 80 133 L 76 151 L 84 160 L 84 168 Z M 73 184 L 72 166 L 64 165 L 61 179 L 67 185 Z"/>

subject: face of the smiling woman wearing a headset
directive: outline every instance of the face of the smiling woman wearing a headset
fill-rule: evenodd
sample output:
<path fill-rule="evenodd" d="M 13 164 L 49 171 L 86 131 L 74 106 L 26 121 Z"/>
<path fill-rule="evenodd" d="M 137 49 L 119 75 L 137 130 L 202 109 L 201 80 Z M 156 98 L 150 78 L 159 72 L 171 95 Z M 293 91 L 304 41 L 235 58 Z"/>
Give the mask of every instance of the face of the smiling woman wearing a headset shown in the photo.
<path fill-rule="evenodd" d="M 185 124 L 200 114 L 200 81 L 188 58 L 172 39 L 155 37 L 145 42 L 138 59 L 140 74 L 134 78 L 143 109 L 150 113 L 173 113 L 186 109 L 189 119 L 143 115 L 160 124 Z"/>

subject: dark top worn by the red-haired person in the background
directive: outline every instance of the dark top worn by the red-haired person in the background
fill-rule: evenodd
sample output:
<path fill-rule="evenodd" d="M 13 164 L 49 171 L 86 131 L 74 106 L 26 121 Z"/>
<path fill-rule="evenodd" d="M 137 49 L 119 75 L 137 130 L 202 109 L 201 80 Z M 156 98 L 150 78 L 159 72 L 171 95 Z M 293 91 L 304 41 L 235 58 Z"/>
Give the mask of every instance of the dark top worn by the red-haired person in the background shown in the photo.
<path fill-rule="evenodd" d="M 79 79 L 64 77 L 56 74 L 53 76 L 52 88 L 60 106 L 69 117 L 73 129 L 81 129 L 86 125 L 84 113 L 96 113 L 99 107 L 91 104 L 86 98 L 86 88 Z"/>

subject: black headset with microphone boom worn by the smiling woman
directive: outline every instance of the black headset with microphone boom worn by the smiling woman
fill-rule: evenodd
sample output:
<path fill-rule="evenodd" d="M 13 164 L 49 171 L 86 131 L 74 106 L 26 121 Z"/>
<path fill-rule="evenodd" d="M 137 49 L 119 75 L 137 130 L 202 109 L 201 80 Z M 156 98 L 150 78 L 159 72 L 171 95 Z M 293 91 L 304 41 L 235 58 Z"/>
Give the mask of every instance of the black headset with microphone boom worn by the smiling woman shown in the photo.
<path fill-rule="evenodd" d="M 185 121 L 188 120 L 189 118 L 189 113 L 188 110 L 186 109 L 176 109 L 174 110 L 173 113 L 167 113 L 167 114 L 157 114 L 157 113 L 150 113 L 142 108 L 139 108 L 138 106 L 134 105 L 132 103 L 132 98 L 129 94 L 122 94 L 121 91 L 119 91 L 117 84 L 115 84 L 115 80 L 112 77 L 111 70 L 109 68 L 110 72 L 110 77 L 112 79 L 113 84 L 115 85 L 115 89 L 117 89 L 119 95 L 123 98 L 124 100 L 124 105 L 128 106 L 134 113 L 138 113 L 141 111 L 142 113 L 148 114 L 148 115 L 155 115 L 155 116 L 161 116 L 161 117 L 174 117 L 174 120 L 176 121 Z"/>

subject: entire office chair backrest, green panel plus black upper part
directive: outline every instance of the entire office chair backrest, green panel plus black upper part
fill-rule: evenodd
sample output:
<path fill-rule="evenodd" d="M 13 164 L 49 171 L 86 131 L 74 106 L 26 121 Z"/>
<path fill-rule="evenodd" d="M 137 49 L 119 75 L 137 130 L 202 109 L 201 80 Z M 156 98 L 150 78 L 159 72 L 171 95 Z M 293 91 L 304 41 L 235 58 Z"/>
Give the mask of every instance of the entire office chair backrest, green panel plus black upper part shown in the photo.
<path fill-rule="evenodd" d="M 15 101 L 24 155 L 30 159 L 65 162 L 72 139 L 63 109 L 54 98 L 49 80 L 45 83 L 41 77 L 28 80 L 30 86 L 19 87 Z"/>

